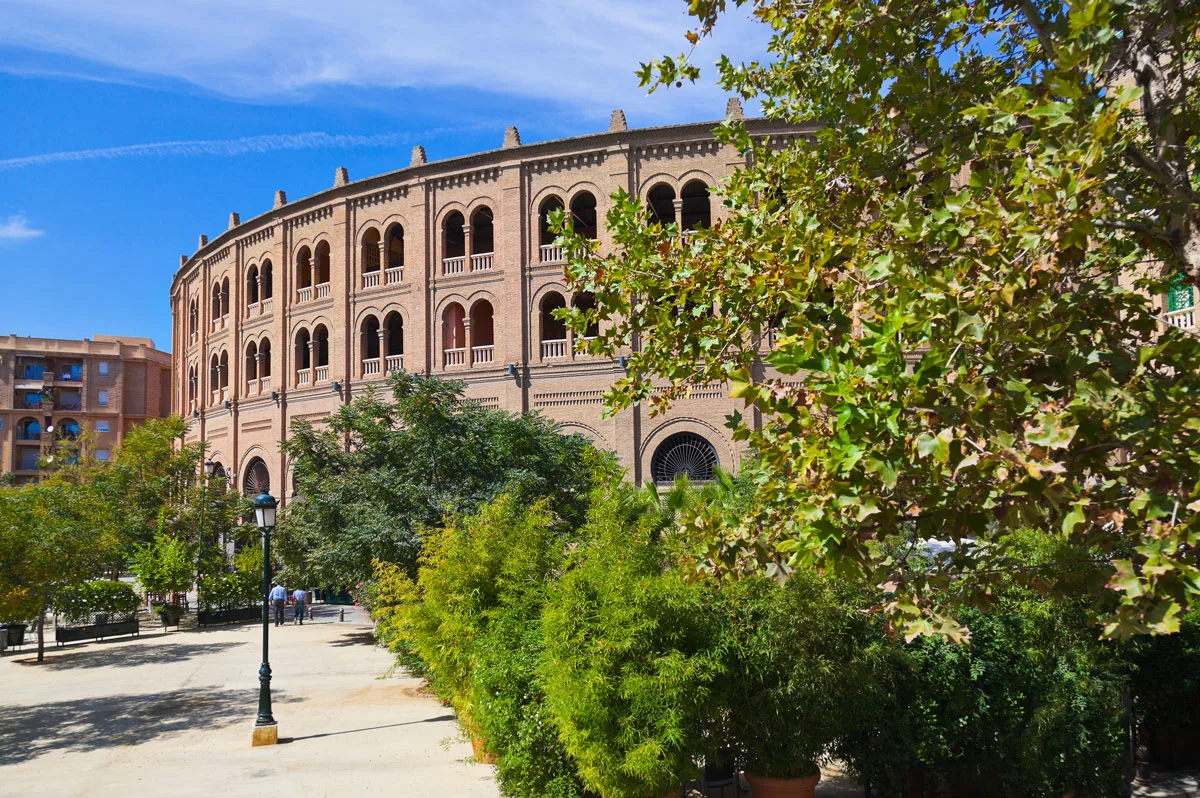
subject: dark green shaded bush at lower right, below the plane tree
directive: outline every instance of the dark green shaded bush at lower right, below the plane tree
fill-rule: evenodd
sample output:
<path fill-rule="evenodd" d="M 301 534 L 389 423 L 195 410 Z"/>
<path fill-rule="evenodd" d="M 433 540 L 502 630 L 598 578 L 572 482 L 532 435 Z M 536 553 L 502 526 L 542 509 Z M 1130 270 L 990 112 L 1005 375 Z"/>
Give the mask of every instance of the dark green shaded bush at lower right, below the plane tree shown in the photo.
<path fill-rule="evenodd" d="M 1078 610 L 1024 592 L 968 610 L 970 646 L 893 642 L 875 718 L 839 755 L 883 796 L 1124 794 L 1126 680 Z M 1154 691 L 1160 686 L 1156 686 Z"/>

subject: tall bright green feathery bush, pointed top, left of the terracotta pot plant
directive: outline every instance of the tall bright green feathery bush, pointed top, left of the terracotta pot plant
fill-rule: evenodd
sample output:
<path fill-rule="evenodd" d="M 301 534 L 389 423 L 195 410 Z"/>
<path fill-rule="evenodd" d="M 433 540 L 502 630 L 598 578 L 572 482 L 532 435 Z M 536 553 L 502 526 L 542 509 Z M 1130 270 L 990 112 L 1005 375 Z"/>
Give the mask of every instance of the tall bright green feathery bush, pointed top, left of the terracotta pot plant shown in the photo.
<path fill-rule="evenodd" d="M 583 781 L 644 798 L 694 776 L 714 745 L 719 680 L 736 677 L 709 592 L 661 538 L 658 498 L 607 486 L 593 500 L 545 610 L 541 682 Z"/>

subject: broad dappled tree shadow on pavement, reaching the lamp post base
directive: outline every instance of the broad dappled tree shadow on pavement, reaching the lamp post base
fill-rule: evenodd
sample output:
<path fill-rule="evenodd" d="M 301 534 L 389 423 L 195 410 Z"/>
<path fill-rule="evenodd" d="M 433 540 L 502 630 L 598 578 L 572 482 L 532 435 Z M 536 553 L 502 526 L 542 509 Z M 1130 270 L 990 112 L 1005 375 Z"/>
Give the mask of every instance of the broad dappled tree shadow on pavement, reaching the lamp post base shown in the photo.
<path fill-rule="evenodd" d="M 272 691 L 274 703 L 299 701 Z M 0 767 L 43 754 L 95 751 L 138 745 L 158 737 L 194 734 L 242 724 L 250 728 L 258 690 L 216 688 L 145 695 L 58 701 L 36 706 L 0 704 Z M 248 734 L 248 731 L 247 731 Z"/>

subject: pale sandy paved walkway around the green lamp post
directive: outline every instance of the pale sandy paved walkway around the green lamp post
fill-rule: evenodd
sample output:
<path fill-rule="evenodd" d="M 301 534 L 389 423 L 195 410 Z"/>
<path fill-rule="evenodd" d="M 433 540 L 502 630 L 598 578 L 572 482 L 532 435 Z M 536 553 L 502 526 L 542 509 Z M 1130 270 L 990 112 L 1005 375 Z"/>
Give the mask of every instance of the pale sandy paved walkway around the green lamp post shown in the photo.
<path fill-rule="evenodd" d="M 262 626 L 10 652 L 0 660 L 4 796 L 494 798 L 451 712 L 389 674 L 370 624 L 317 607 L 271 628 L 281 744 L 251 748 Z"/>

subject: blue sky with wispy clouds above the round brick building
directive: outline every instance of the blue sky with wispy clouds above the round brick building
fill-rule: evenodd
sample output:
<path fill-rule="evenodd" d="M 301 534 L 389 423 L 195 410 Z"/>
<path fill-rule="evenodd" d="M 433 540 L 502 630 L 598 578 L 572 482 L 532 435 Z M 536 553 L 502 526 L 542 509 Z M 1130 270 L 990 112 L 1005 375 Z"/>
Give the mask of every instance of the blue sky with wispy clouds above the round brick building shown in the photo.
<path fill-rule="evenodd" d="M 430 158 L 718 119 L 712 85 L 647 97 L 683 0 L 5 0 L 0 24 L 0 335 L 170 346 L 181 253 L 229 211 Z M 755 55 L 734 18 L 697 60 Z"/>

